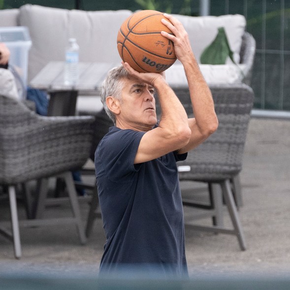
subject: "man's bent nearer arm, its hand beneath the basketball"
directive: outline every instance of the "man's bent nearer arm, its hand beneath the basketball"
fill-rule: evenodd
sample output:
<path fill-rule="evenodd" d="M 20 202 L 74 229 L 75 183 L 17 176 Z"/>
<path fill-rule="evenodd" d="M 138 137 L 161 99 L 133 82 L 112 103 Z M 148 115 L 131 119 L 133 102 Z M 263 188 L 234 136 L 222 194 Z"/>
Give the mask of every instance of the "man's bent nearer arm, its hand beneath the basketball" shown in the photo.
<path fill-rule="evenodd" d="M 124 64 L 129 73 L 152 85 L 159 96 L 161 120 L 159 127 L 146 132 L 139 144 L 134 163 L 156 159 L 184 147 L 190 140 L 191 129 L 186 111 L 159 73 L 139 73 Z"/>

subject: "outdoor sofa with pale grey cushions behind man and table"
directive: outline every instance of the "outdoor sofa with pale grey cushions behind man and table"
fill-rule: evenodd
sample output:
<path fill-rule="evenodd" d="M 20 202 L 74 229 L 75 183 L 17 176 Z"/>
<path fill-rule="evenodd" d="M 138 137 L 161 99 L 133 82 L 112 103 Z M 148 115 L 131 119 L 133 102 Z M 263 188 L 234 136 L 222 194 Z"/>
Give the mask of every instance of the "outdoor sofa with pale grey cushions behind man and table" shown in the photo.
<path fill-rule="evenodd" d="M 133 12 L 81 11 L 26 4 L 19 9 L 0 10 L 0 27 L 26 26 L 32 40 L 28 61 L 28 83 L 50 61 L 63 61 L 68 38 L 75 37 L 80 46 L 81 62 L 120 63 L 117 33 L 121 24 Z M 255 55 L 255 40 L 245 32 L 242 15 L 191 17 L 175 15 L 189 33 L 193 52 L 200 63 L 204 49 L 215 39 L 218 28 L 225 28 L 235 65 L 227 58 L 226 64 L 200 64 L 200 69 L 211 84 L 245 82 L 250 84 Z M 105 75 L 106 72 L 104 72 Z M 181 64 L 177 61 L 166 72 L 172 86 L 186 85 Z M 93 96 L 78 98 L 78 110 L 101 110 L 99 99 Z M 93 108 L 93 109 L 92 109 Z"/>

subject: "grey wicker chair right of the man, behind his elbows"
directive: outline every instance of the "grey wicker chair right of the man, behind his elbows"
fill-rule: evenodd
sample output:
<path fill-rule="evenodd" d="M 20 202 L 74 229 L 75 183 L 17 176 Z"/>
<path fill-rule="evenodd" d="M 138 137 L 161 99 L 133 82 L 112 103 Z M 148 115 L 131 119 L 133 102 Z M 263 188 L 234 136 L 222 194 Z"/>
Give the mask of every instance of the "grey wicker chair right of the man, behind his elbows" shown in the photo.
<path fill-rule="evenodd" d="M 210 204 L 205 205 L 183 198 L 184 206 L 211 210 L 213 226 L 191 225 L 194 229 L 230 233 L 237 236 L 241 250 L 246 249 L 242 226 L 234 202 L 230 179 L 242 170 L 242 158 L 250 113 L 254 101 L 253 90 L 245 84 L 211 87 L 219 128 L 205 142 L 188 153 L 186 161 L 178 162 L 181 181 L 205 182 L 209 185 Z M 189 116 L 193 116 L 187 88 L 175 89 Z M 221 186 L 233 229 L 223 226 L 222 198 L 214 187 Z M 194 194 L 194 192 L 193 192 Z"/>

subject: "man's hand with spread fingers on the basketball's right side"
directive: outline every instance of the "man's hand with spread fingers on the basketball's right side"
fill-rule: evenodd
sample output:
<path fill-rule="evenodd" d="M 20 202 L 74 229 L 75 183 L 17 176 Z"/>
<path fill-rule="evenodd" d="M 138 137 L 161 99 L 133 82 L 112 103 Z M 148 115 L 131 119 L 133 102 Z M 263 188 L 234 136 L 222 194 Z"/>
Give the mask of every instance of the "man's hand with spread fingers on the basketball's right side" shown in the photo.
<path fill-rule="evenodd" d="M 175 55 L 178 60 L 180 60 L 181 63 L 184 64 L 188 60 L 194 58 L 188 33 L 178 19 L 166 13 L 164 13 L 163 16 L 170 20 L 171 23 L 169 21 L 166 21 L 165 19 L 161 19 L 162 24 L 170 29 L 173 35 L 164 31 L 161 31 L 161 35 L 172 40 L 174 44 Z"/>

